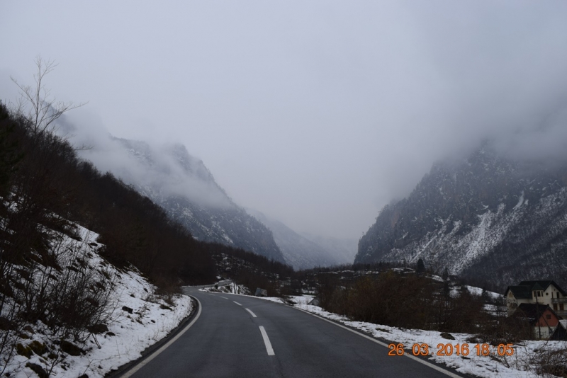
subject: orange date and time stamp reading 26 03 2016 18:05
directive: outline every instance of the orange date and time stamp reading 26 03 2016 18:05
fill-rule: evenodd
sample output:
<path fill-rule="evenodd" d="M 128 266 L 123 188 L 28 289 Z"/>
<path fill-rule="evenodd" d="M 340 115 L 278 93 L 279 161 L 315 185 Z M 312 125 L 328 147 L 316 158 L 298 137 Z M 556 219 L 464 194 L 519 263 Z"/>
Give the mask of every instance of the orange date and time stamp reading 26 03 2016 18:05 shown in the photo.
<path fill-rule="evenodd" d="M 449 355 L 463 355 L 467 356 L 469 353 L 476 353 L 478 356 L 488 356 L 498 354 L 500 356 L 513 355 L 514 348 L 513 344 L 498 344 L 498 347 L 490 348 L 488 344 L 475 344 L 473 348 L 469 348 L 468 344 L 437 344 L 437 353 L 435 351 L 430 351 L 430 345 L 428 344 L 412 344 L 412 355 L 430 355 L 435 354 L 439 356 L 449 356 Z M 404 355 L 404 345 L 401 343 L 388 345 L 390 351 L 388 355 Z M 491 350 L 492 349 L 492 350 Z"/>

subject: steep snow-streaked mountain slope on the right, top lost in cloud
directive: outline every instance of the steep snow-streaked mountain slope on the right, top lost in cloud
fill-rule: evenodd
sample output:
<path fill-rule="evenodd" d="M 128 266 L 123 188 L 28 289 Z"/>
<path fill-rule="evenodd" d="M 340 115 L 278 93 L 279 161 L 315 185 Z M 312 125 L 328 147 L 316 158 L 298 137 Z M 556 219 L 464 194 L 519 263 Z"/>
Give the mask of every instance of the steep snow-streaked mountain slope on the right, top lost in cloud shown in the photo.
<path fill-rule="evenodd" d="M 359 241 L 355 262 L 419 258 L 500 287 L 567 284 L 567 165 L 510 161 L 484 144 L 435 164 L 405 199 L 387 205 Z"/>

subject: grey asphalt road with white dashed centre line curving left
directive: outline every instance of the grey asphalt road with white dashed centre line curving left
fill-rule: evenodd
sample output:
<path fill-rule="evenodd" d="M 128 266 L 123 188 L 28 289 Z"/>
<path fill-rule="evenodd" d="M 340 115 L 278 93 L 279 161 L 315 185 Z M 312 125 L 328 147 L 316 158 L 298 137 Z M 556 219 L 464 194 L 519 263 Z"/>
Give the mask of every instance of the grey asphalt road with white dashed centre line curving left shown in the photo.
<path fill-rule="evenodd" d="M 283 304 L 197 288 L 186 294 L 201 302 L 200 316 L 132 377 L 448 377 Z"/>

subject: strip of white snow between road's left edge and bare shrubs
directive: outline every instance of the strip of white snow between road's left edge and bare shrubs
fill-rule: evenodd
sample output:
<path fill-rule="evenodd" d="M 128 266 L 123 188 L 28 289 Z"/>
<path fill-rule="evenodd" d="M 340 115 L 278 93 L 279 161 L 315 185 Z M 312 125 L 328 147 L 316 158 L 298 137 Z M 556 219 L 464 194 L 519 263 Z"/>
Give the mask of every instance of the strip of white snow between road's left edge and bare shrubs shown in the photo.
<path fill-rule="evenodd" d="M 101 246 L 96 243 L 97 234 L 83 227 L 78 229 L 82 241 L 67 238 L 64 242 L 69 246 L 79 244 L 79 248 L 84 248 L 84 256 L 91 256 L 87 260 L 89 266 L 105 266 L 106 271 L 115 277 L 116 286 L 113 288 L 111 301 L 113 308 L 110 309 L 112 320 L 107 324 L 108 332 L 91 336 L 84 345 L 78 345 L 84 350 L 84 355 L 67 355 L 64 360 L 58 362 L 52 369 L 52 377 L 79 377 L 82 374 L 91 378 L 104 377 L 111 370 L 139 358 L 142 350 L 167 336 L 191 313 L 190 297 L 181 294 L 170 298 L 156 295 L 156 287 L 147 282 L 134 268 L 118 270 L 96 253 Z M 37 340 L 50 344 L 45 336 L 45 333 L 49 333 L 45 325 L 38 321 L 31 323 L 30 327 L 35 333 L 30 335 L 28 340 L 20 340 L 20 343 L 28 345 Z M 99 343 L 100 348 L 96 343 Z M 28 363 L 40 365 L 48 371 L 51 361 L 46 359 L 45 355 L 33 354 L 29 359 L 16 355 L 4 373 L 10 373 L 10 377 L 34 377 L 35 373 L 26 367 Z"/>

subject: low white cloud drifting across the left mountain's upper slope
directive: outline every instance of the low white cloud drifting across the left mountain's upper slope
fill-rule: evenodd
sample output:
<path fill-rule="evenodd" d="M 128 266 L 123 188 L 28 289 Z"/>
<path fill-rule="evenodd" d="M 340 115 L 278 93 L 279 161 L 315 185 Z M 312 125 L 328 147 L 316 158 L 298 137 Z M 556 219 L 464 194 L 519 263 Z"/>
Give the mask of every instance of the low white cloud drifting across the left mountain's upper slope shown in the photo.
<path fill-rule="evenodd" d="M 113 137 L 96 115 L 82 110 L 64 116 L 58 133 L 79 147 L 82 159 L 150 196 L 185 197 L 203 207 L 234 205 L 203 162 L 182 144 Z"/>

